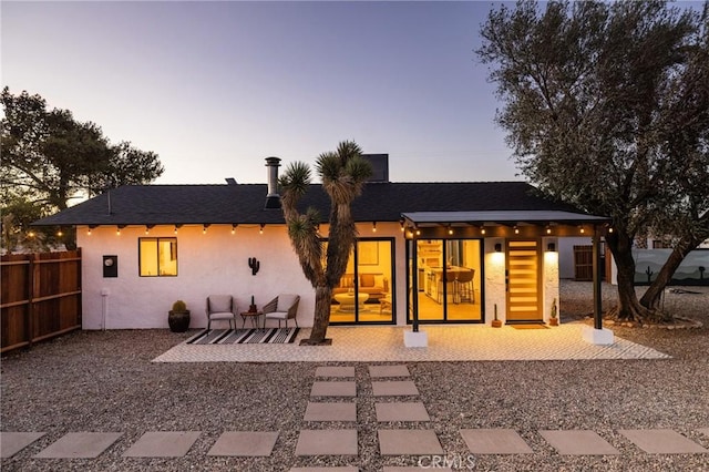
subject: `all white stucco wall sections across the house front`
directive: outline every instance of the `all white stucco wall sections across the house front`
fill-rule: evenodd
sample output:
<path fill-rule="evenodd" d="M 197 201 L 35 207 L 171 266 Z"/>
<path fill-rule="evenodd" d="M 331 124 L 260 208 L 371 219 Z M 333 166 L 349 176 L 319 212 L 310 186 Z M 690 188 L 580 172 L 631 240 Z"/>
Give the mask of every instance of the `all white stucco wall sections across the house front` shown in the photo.
<path fill-rule="evenodd" d="M 302 275 L 285 226 L 269 225 L 259 234 L 256 225 L 238 226 L 232 235 L 230 225 L 213 225 L 207 234 L 201 225 L 186 225 L 177 233 L 177 277 L 138 276 L 138 238 L 174 237 L 173 226 L 156 226 L 145 235 L 143 226 L 125 227 L 116 235 L 115 226 L 100 226 L 89 236 L 86 227 L 78 228 L 78 244 L 82 248 L 83 329 L 102 329 L 105 314 L 106 329 L 167 328 L 167 311 L 173 301 L 183 299 L 192 311 L 191 328 L 206 327 L 205 299 L 210 294 L 230 294 L 238 309 L 248 309 L 254 295 L 260 307 L 276 295 L 300 295 L 298 325 L 312 326 L 315 294 Z M 371 224 L 358 225 L 360 238 L 393 238 L 395 273 L 390 284 L 395 293 L 395 322 L 407 325 L 405 242 L 398 223 L 379 223 L 377 233 Z M 327 234 L 327 226 L 321 227 Z M 551 242 L 552 239 L 549 239 Z M 558 239 L 554 239 L 558 244 Z M 484 239 L 485 324 L 497 318 L 505 321 L 505 256 L 494 250 L 504 247 L 504 239 Z M 547 240 L 543 242 L 546 248 Z M 558 246 L 557 246 L 558 247 Z M 557 253 L 544 256 L 544 319 L 548 318 L 554 298 L 558 304 Z M 103 256 L 119 256 L 119 277 L 103 277 Z M 248 258 L 260 261 L 260 270 L 251 275 Z M 105 297 L 102 293 L 107 294 Z"/>

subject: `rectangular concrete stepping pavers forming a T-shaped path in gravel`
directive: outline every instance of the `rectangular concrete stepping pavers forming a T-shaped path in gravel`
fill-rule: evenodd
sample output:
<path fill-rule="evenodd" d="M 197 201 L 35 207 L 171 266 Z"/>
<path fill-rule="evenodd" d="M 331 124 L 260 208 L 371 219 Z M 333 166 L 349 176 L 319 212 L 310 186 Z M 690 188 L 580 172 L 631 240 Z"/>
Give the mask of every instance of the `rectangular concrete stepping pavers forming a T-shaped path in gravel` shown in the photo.
<path fill-rule="evenodd" d="M 307 422 L 357 421 L 358 401 L 372 401 L 377 412 L 377 440 L 381 455 L 403 456 L 408 463 L 420 466 L 384 466 L 382 472 L 411 472 L 430 469 L 421 458 L 431 461 L 445 454 L 435 431 L 428 427 L 430 418 L 423 402 L 418 401 L 415 383 L 408 379 L 403 365 L 369 366 L 369 382 L 374 392 L 371 398 L 358 397 L 353 367 L 321 366 L 315 369 L 304 420 Z M 374 380 L 376 379 L 376 380 Z M 379 394 L 378 394 L 379 392 Z M 339 397 L 331 399 L 330 397 Z M 393 397 L 393 399 L 392 399 Z M 345 401 L 343 401 L 345 400 Z M 382 400 L 382 401 L 379 401 Z M 386 401 L 383 401 L 386 400 Z M 388 423 L 395 422 L 397 428 Z M 401 422 L 411 423 L 401 428 Z M 321 425 L 321 424 L 320 424 Z M 709 438 L 709 428 L 699 433 Z M 671 429 L 619 430 L 641 451 L 649 454 L 709 454 L 709 450 Z M 534 454 L 535 451 L 511 429 L 461 429 L 459 431 L 471 454 Z M 537 432 L 561 455 L 618 455 L 620 452 L 606 439 L 589 430 L 543 430 Z M 96 458 L 109 449 L 121 432 L 70 432 L 49 444 L 34 458 L 74 459 Z M 185 455 L 198 439 L 198 431 L 148 431 L 129 447 L 126 458 L 177 458 Z M 304 429 L 298 433 L 295 454 L 300 456 L 346 458 L 346 466 L 296 466 L 291 472 L 353 472 L 359 471 L 358 430 L 351 428 Z M 43 432 L 0 432 L 0 456 L 10 458 L 44 435 Z M 268 456 L 276 445 L 278 431 L 225 431 L 207 455 Z M 435 470 L 450 471 L 440 466 Z"/>

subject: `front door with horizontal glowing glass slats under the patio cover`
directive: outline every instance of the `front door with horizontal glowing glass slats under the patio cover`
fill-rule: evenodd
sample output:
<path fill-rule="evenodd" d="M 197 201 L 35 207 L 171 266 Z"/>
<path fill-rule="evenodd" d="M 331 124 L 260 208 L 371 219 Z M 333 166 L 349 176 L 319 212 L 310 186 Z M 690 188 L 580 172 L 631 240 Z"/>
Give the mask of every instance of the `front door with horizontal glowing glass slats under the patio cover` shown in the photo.
<path fill-rule="evenodd" d="M 538 240 L 507 240 L 507 322 L 542 321 Z"/>

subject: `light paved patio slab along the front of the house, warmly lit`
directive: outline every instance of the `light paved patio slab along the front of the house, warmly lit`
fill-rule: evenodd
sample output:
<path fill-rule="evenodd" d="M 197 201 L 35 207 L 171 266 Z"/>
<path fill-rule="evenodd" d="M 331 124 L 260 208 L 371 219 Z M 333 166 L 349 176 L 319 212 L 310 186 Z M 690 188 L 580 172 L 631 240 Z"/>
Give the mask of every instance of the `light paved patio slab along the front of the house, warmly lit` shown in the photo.
<path fill-rule="evenodd" d="M 613 346 L 594 346 L 582 339 L 583 324 L 562 324 L 554 329 L 518 330 L 510 326 L 428 325 L 429 347 L 403 346 L 409 327 L 328 328 L 332 346 L 300 346 L 310 336 L 302 328 L 292 343 L 207 345 L 181 342 L 153 362 L 422 362 L 466 360 L 567 360 L 567 359 L 669 359 L 655 349 L 615 337 Z M 540 349 L 544 346 L 544 349 Z"/>

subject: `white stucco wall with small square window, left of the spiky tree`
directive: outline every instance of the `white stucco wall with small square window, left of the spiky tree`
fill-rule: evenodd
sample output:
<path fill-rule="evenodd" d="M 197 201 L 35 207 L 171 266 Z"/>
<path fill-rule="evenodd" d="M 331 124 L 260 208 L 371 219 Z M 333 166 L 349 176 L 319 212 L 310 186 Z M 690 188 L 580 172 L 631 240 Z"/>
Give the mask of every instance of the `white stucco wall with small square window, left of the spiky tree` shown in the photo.
<path fill-rule="evenodd" d="M 177 233 L 177 277 L 138 276 L 138 238 L 146 237 L 144 227 L 100 226 L 86 235 L 78 229 L 82 248 L 83 328 L 102 329 L 103 300 L 107 329 L 167 328 L 167 311 L 173 301 L 183 299 L 192 312 L 191 327 L 206 327 L 206 297 L 230 294 L 238 309 L 248 309 L 250 297 L 263 306 L 279 293 L 301 295 L 298 322 L 307 326 L 314 312 L 312 288 L 306 280 L 297 257 L 290 250 L 285 227 L 239 226 L 232 235 L 230 225 L 214 225 L 202 234 L 202 226 L 183 226 Z M 147 237 L 173 237 L 172 226 L 154 227 Z M 288 250 L 282 250 L 287 247 Z M 119 256 L 119 277 L 104 278 L 103 255 Z M 260 270 L 251 275 L 248 258 L 260 261 Z"/>

